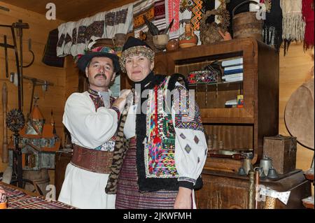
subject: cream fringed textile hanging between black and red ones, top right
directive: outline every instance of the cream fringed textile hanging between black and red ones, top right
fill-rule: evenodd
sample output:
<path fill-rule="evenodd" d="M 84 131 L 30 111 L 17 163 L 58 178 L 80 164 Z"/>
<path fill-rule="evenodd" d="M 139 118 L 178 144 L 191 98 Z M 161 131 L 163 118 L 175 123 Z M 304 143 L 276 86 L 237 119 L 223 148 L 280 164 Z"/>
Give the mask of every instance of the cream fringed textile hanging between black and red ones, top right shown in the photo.
<path fill-rule="evenodd" d="M 305 22 L 302 18 L 302 0 L 280 0 L 282 9 L 282 38 L 284 55 L 291 41 L 303 41 Z"/>

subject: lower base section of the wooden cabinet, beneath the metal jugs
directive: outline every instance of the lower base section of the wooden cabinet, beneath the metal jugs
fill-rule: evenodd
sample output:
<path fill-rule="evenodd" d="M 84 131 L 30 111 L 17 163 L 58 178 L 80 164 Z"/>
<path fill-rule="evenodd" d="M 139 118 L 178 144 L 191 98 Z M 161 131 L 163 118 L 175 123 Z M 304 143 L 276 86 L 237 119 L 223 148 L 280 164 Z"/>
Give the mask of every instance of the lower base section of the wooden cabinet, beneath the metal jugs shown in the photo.
<path fill-rule="evenodd" d="M 204 186 L 196 194 L 197 208 L 207 209 L 246 209 L 248 208 L 248 177 L 235 173 L 222 173 L 205 170 L 202 174 Z M 278 180 L 260 180 L 260 185 L 277 192 L 290 191 L 287 205 L 276 199 L 276 209 L 303 208 L 301 199 L 311 194 L 310 182 L 300 170 L 279 175 Z M 258 208 L 264 207 L 264 201 Z"/>

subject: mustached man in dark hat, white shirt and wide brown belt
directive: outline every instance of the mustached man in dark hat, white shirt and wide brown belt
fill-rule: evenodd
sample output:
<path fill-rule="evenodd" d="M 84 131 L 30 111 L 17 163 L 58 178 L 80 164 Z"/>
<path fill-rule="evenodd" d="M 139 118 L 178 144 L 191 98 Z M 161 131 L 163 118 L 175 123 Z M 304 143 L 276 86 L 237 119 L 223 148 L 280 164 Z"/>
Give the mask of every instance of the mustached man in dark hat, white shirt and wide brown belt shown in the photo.
<path fill-rule="evenodd" d="M 63 124 L 71 134 L 73 156 L 59 201 L 77 208 L 115 208 L 116 196 L 106 194 L 115 134 L 126 103 L 125 94 L 115 102 L 109 85 L 120 70 L 118 56 L 111 48 L 94 48 L 80 55 L 80 71 L 89 80 L 89 89 L 73 93 L 66 100 Z"/>

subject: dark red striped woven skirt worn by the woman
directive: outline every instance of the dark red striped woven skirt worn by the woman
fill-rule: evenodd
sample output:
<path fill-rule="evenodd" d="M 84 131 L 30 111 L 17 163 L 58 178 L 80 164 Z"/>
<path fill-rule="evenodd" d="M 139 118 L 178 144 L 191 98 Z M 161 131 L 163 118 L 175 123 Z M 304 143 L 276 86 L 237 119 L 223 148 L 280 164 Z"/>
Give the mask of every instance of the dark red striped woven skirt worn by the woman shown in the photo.
<path fill-rule="evenodd" d="M 130 139 L 123 168 L 118 179 L 116 194 L 117 209 L 172 209 L 177 192 L 157 191 L 140 193 L 136 165 L 136 139 Z"/>

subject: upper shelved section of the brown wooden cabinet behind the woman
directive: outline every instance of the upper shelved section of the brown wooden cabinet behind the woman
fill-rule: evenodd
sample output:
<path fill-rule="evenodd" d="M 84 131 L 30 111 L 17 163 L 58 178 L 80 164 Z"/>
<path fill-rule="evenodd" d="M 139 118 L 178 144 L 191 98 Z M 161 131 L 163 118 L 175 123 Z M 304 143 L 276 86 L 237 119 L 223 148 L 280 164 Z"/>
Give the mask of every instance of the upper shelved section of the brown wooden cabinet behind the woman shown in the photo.
<path fill-rule="evenodd" d="M 216 135 L 224 150 L 253 152 L 252 163 L 262 157 L 264 136 L 278 134 L 279 55 L 254 38 L 198 45 L 155 57 L 155 73 L 188 75 L 215 60 L 243 58 L 243 80 L 190 86 L 200 106 L 207 136 Z M 244 96 L 243 108 L 225 108 L 225 102 Z M 209 157 L 205 169 L 237 172 L 241 160 Z"/>

